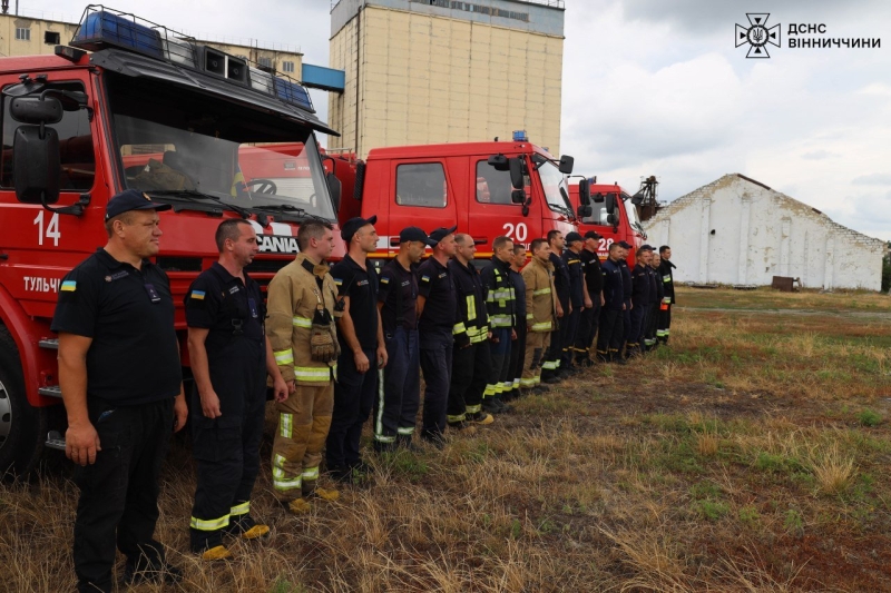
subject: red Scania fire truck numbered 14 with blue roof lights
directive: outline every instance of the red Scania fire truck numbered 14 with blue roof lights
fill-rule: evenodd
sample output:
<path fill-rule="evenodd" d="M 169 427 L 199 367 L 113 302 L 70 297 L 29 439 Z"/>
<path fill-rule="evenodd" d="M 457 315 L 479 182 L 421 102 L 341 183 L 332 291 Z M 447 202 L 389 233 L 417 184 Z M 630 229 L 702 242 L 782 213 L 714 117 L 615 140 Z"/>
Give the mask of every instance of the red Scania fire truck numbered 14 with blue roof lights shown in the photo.
<path fill-rule="evenodd" d="M 130 188 L 173 206 L 156 264 L 184 340 L 183 297 L 217 258 L 219 221 L 257 230 L 248 271 L 265 285 L 293 259 L 301 223 L 336 224 L 340 182 L 315 140 L 336 132 L 302 85 L 102 7 L 55 55 L 0 59 L 0 474 L 21 474 L 65 446 L 50 432 L 65 422 L 50 322 L 60 279 L 107 240 L 111 196 Z"/>

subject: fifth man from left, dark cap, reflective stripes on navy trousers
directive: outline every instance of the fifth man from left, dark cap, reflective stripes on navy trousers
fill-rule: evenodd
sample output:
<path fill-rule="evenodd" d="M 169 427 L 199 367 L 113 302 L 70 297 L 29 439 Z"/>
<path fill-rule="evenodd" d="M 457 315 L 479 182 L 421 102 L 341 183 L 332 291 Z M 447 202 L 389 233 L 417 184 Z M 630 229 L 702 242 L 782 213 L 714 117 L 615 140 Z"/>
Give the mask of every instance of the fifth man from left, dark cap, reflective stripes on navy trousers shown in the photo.
<path fill-rule="evenodd" d="M 374 402 L 374 451 L 379 453 L 412 446 L 414 422 L 421 407 L 418 278 L 413 266 L 433 243 L 418 227 L 402 229 L 399 254 L 381 269 L 378 308 L 389 358 Z"/>

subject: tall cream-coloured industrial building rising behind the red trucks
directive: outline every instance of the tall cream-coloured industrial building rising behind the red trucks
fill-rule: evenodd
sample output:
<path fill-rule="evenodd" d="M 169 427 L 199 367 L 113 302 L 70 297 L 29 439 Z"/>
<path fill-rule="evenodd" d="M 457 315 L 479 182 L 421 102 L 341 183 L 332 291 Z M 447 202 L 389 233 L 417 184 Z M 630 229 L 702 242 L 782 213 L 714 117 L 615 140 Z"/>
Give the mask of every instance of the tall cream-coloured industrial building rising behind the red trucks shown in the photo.
<path fill-rule="evenodd" d="M 509 139 L 525 129 L 559 154 L 562 0 L 339 0 L 330 146 Z"/>

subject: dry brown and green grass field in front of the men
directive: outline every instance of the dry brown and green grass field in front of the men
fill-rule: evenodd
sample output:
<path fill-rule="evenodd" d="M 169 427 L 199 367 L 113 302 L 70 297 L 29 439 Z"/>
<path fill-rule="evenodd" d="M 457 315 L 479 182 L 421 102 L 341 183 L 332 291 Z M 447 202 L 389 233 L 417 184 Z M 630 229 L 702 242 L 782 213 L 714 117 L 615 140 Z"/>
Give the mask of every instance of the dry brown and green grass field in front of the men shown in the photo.
<path fill-rule="evenodd" d="M 272 537 L 233 543 L 233 562 L 188 553 L 194 468 L 175 439 L 157 536 L 186 580 L 140 591 L 890 590 L 891 299 L 681 297 L 713 308 L 678 310 L 669 349 L 441 452 L 370 456 L 368 482 L 306 516 L 275 502 L 265 443 L 253 508 Z M 771 307 L 812 313 L 750 313 Z M 55 465 L 0 487 L 3 591 L 74 586 L 77 488 Z"/>

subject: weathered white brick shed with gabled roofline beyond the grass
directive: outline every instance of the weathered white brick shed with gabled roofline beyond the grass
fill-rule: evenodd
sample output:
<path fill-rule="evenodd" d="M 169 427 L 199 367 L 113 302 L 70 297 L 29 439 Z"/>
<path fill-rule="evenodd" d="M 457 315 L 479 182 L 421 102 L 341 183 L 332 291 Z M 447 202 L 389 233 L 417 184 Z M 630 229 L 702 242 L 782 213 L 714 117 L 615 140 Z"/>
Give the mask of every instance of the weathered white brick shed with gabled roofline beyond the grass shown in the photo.
<path fill-rule="evenodd" d="M 669 245 L 676 281 L 880 290 L 884 243 L 738 174 L 677 198 L 644 227 Z"/>

